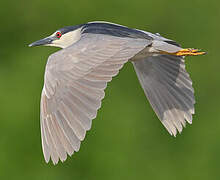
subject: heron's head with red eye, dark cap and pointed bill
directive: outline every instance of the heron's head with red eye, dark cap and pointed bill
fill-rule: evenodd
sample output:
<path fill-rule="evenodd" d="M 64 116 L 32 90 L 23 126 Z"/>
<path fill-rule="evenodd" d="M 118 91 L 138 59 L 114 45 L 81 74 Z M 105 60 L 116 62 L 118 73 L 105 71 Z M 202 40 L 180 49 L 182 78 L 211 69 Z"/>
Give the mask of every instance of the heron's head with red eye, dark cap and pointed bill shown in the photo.
<path fill-rule="evenodd" d="M 81 36 L 81 26 L 68 26 L 55 31 L 52 35 L 29 44 L 32 46 L 55 46 L 66 48 L 78 41 Z"/>

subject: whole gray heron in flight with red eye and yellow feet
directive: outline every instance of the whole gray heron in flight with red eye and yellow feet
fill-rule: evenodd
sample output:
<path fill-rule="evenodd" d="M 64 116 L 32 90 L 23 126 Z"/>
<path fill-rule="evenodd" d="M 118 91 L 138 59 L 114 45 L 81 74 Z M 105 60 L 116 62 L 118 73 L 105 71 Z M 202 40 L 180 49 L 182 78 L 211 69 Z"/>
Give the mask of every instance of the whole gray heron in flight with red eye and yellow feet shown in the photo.
<path fill-rule="evenodd" d="M 47 163 L 63 162 L 79 151 L 107 83 L 128 61 L 171 135 L 192 123 L 194 89 L 184 57 L 205 52 L 182 48 L 159 33 L 100 21 L 61 28 L 29 46 L 40 45 L 62 48 L 47 60 L 41 94 L 42 151 Z"/>

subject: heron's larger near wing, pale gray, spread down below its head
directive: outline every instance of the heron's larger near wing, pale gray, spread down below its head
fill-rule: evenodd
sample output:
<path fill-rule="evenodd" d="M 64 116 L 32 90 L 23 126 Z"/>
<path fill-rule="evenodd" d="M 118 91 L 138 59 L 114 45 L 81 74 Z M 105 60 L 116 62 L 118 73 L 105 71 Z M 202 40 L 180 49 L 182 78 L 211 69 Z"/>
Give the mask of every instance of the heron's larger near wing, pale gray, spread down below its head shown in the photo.
<path fill-rule="evenodd" d="M 80 148 L 104 98 L 107 82 L 150 42 L 84 34 L 52 54 L 41 96 L 41 135 L 46 162 L 64 161 Z"/>

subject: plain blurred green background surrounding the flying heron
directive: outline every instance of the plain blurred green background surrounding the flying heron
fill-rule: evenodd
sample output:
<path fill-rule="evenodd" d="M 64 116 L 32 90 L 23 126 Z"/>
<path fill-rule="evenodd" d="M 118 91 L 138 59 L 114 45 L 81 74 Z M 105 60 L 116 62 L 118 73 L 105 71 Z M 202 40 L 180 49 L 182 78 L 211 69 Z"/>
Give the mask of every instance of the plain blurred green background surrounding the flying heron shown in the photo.
<path fill-rule="evenodd" d="M 0 179 L 117 180 L 220 178 L 220 1 L 1 1 Z M 103 106 L 78 153 L 53 166 L 43 159 L 39 102 L 52 47 L 29 48 L 55 30 L 104 20 L 159 32 L 205 56 L 188 57 L 196 114 L 171 137 L 130 63 L 106 90 Z"/>

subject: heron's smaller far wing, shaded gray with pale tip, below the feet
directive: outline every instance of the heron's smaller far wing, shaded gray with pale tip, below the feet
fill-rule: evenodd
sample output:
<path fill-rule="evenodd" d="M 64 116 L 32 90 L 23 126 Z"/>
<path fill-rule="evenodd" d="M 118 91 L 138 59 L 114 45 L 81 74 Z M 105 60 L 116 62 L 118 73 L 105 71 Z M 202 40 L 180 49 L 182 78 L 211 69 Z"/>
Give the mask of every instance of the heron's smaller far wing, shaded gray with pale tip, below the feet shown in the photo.
<path fill-rule="evenodd" d="M 192 123 L 194 114 L 194 90 L 184 59 L 158 55 L 134 61 L 133 65 L 158 118 L 168 132 L 176 136 L 186 121 Z"/>

